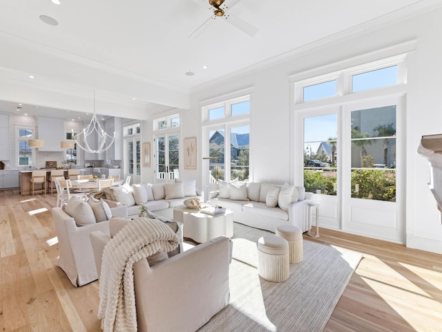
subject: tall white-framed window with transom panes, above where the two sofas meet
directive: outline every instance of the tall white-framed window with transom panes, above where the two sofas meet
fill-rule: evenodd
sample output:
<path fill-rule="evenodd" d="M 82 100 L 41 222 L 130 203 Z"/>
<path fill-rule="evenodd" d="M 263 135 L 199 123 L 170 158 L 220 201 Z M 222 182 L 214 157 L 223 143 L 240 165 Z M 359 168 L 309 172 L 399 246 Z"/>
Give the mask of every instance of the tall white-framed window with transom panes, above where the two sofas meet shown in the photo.
<path fill-rule="evenodd" d="M 202 108 L 205 182 L 250 180 L 250 105 L 250 95 L 245 95 Z"/>

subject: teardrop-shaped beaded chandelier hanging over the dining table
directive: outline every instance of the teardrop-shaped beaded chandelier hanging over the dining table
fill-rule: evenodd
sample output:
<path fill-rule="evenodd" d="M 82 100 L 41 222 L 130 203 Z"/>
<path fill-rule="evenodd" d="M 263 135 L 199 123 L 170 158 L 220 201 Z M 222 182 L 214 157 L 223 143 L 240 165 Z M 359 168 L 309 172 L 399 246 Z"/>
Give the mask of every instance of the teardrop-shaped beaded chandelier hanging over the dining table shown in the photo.
<path fill-rule="evenodd" d="M 75 142 L 77 143 L 77 147 L 83 149 L 86 152 L 90 152 L 91 154 L 99 154 L 101 152 L 106 151 L 113 145 L 113 141 L 115 140 L 114 136 L 108 135 L 106 131 L 99 124 L 98 118 L 95 115 L 95 91 L 94 91 L 94 115 L 88 124 L 88 127 L 84 128 L 80 133 L 73 136 Z M 93 149 L 90 147 L 90 143 L 88 140 L 94 140 L 95 146 L 95 138 L 97 138 L 97 149 Z"/>

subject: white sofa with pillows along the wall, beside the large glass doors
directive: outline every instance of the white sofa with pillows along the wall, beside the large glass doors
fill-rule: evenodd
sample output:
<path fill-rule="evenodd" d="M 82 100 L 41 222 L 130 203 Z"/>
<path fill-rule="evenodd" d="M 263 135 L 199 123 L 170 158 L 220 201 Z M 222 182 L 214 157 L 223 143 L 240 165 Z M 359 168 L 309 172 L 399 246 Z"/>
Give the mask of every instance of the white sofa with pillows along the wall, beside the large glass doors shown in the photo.
<path fill-rule="evenodd" d="M 209 193 L 209 203 L 228 208 L 233 221 L 275 232 L 280 225 L 294 225 L 307 232 L 307 202 L 304 187 L 285 183 L 227 183 Z"/>

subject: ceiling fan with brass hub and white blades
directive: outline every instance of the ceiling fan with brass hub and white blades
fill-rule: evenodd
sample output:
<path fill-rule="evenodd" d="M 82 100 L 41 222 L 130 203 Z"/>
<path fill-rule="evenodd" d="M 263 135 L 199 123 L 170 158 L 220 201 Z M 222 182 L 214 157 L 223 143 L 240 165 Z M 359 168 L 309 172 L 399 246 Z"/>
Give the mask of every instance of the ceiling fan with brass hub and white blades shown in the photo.
<path fill-rule="evenodd" d="M 204 6 L 207 10 L 210 10 L 213 15 L 206 19 L 203 24 L 201 24 L 191 35 L 189 38 L 198 37 L 206 28 L 211 24 L 215 19 L 224 19 L 229 22 L 232 26 L 240 29 L 242 32 L 247 33 L 247 35 L 253 37 L 258 33 L 258 28 L 248 24 L 246 21 L 243 21 L 239 17 L 231 14 L 229 10 L 236 5 L 236 3 L 241 0 L 209 0 L 209 5 L 207 6 L 207 0 L 193 0 L 193 2 L 198 3 L 200 6 Z M 227 3 L 227 4 L 226 4 Z"/>

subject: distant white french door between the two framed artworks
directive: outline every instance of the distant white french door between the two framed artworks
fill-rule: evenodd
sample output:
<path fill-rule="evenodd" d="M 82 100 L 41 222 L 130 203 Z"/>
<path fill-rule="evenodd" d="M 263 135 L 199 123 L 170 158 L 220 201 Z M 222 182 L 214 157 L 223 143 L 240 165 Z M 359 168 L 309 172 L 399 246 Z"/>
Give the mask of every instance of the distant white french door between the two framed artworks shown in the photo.
<path fill-rule="evenodd" d="M 180 177 L 180 133 L 155 136 L 155 182 L 173 182 Z"/>

